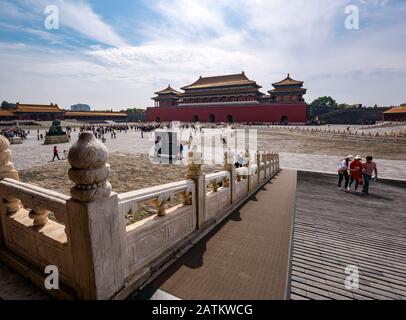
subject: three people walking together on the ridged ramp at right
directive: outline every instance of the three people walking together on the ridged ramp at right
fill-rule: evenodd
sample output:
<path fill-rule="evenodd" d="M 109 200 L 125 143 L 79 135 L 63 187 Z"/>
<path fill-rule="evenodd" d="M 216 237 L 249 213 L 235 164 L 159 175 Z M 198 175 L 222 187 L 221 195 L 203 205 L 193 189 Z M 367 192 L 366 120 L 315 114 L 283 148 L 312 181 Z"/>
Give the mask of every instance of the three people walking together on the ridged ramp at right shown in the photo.
<path fill-rule="evenodd" d="M 340 163 L 338 168 L 338 189 L 343 190 L 342 183 L 344 180 L 344 190 L 346 192 L 350 192 L 352 185 L 355 183 L 354 190 L 357 191 L 358 187 L 362 185 L 362 192 L 367 195 L 374 174 L 375 180 L 377 180 L 378 168 L 372 156 L 366 157 L 365 161 L 363 161 L 360 155 L 355 157 L 349 155 Z"/>

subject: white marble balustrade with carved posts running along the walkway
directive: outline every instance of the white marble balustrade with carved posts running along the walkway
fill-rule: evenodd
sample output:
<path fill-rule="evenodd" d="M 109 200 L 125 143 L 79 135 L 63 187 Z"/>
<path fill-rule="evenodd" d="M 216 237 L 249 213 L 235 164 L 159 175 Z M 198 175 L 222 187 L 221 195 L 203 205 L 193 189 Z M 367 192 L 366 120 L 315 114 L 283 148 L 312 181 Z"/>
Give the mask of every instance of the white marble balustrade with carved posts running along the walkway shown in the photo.
<path fill-rule="evenodd" d="M 279 172 L 277 153 L 239 169 L 226 153 L 224 171 L 204 175 L 194 149 L 185 180 L 116 194 L 107 154 L 91 132 L 80 135 L 69 150 L 75 186 L 66 196 L 19 182 L 0 136 L 0 260 L 42 289 L 45 267 L 57 266 L 60 290 L 47 291 L 57 298 L 128 296 Z M 127 225 L 126 215 L 146 202 L 156 214 Z"/>

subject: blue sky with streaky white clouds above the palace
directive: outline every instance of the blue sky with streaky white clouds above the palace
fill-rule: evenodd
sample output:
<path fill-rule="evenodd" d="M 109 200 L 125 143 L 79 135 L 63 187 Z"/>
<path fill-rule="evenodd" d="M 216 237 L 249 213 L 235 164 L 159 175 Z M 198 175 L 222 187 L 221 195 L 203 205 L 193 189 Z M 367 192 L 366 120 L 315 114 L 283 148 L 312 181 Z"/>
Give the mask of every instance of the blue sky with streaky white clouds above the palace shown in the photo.
<path fill-rule="evenodd" d="M 309 103 L 399 105 L 405 17 L 404 0 L 0 0 L 0 100 L 146 108 L 168 84 L 244 71 L 264 93 L 290 73 Z"/>

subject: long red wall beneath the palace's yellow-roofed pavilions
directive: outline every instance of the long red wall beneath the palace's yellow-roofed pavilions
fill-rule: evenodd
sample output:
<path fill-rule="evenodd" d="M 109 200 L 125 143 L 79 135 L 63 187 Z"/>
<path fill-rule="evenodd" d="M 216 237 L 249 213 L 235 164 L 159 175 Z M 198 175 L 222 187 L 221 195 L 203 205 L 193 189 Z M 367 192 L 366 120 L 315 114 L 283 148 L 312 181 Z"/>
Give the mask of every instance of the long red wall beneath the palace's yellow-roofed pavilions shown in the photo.
<path fill-rule="evenodd" d="M 157 117 L 161 121 L 192 122 L 193 116 L 199 117 L 199 122 L 210 122 L 210 114 L 214 114 L 216 122 L 227 122 L 227 116 L 232 115 L 234 122 L 280 122 L 283 116 L 290 123 L 307 121 L 306 104 L 261 104 L 207 107 L 174 107 L 147 108 L 147 121 L 154 122 Z"/>

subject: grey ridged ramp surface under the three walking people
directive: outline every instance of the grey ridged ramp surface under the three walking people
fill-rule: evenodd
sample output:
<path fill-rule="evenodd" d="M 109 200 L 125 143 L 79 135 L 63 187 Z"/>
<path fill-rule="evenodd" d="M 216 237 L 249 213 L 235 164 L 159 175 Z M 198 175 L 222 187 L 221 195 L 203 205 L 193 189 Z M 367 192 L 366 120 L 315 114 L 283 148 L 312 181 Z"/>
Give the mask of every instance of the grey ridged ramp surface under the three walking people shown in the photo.
<path fill-rule="evenodd" d="M 357 266 L 359 288 L 346 289 Z M 291 299 L 406 299 L 406 185 L 345 193 L 336 177 L 298 173 Z"/>

